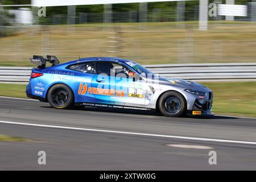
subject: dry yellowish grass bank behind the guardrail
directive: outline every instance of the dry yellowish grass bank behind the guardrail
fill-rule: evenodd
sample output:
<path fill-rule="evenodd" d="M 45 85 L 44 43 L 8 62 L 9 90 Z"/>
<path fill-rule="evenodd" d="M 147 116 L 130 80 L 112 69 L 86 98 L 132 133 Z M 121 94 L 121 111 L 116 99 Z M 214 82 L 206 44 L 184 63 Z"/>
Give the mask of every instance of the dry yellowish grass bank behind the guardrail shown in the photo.
<path fill-rule="evenodd" d="M 79 56 L 119 56 L 141 64 L 255 62 L 255 32 L 255 23 L 236 21 L 209 21 L 208 31 L 199 31 L 197 21 L 30 27 L 0 38 L 0 66 L 31 67 L 32 55 L 56 55 L 61 62 Z"/>

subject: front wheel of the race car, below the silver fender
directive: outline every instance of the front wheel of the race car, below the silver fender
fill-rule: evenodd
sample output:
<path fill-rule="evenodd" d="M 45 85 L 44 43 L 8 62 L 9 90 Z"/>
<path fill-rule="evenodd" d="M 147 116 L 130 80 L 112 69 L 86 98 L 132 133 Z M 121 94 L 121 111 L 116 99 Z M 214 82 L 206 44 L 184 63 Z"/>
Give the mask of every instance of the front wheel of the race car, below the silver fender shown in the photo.
<path fill-rule="evenodd" d="M 187 109 L 185 98 L 175 91 L 164 93 L 159 100 L 159 110 L 167 117 L 180 117 Z"/>

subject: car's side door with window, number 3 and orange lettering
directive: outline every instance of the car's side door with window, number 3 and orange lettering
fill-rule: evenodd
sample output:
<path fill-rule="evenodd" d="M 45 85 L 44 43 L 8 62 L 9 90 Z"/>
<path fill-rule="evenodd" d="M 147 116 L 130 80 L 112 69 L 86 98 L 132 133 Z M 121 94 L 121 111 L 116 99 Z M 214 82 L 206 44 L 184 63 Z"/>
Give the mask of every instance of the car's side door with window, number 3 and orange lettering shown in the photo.
<path fill-rule="evenodd" d="M 143 106 L 145 94 L 143 83 L 139 79 L 129 77 L 133 73 L 121 63 L 112 61 L 96 61 L 97 74 L 94 75 L 92 86 L 94 97 L 98 103 Z"/>

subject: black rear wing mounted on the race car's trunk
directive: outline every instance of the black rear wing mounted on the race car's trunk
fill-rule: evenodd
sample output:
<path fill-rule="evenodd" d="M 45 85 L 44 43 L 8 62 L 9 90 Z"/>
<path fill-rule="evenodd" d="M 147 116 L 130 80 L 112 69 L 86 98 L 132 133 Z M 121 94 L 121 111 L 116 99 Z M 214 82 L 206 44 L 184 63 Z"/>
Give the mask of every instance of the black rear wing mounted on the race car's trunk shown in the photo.
<path fill-rule="evenodd" d="M 38 68 L 46 68 L 46 62 L 51 63 L 52 66 L 60 64 L 60 61 L 57 59 L 56 56 L 49 55 L 47 55 L 46 58 L 44 58 L 43 56 L 34 55 L 32 58 L 30 58 L 30 62 L 38 65 Z"/>

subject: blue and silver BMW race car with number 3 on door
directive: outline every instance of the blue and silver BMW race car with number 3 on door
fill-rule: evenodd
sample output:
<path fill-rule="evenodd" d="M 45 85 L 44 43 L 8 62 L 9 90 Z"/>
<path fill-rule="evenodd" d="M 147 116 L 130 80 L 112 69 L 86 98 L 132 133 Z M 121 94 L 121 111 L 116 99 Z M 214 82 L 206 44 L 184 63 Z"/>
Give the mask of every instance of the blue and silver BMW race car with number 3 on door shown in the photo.
<path fill-rule="evenodd" d="M 73 105 L 155 110 L 167 117 L 213 115 L 213 92 L 201 84 L 160 77 L 131 60 L 89 57 L 59 64 L 33 56 L 26 93 L 57 109 Z M 49 62 L 51 67 L 46 67 Z"/>

